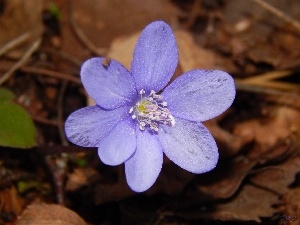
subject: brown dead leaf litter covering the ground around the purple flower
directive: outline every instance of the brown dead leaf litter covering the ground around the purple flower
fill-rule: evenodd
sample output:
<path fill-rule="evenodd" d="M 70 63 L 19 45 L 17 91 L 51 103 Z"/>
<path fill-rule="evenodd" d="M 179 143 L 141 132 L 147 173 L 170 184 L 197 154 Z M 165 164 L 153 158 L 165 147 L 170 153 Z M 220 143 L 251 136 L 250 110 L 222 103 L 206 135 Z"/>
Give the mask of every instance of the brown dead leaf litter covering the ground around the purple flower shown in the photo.
<path fill-rule="evenodd" d="M 33 218 L 26 221 L 29 225 L 36 224 L 34 218 L 49 219 L 28 209 L 36 202 L 55 204 L 58 194 L 67 208 L 89 224 L 299 224 L 300 39 L 293 25 L 254 0 L 164 0 L 145 5 L 135 0 L 66 2 L 51 1 L 61 14 L 52 18 L 50 1 L 45 0 L 42 7 L 28 1 L 29 8 L 42 10 L 29 10 L 30 19 L 22 20 L 28 6 L 0 1 L 4 6 L 0 29 L 5 30 L 0 52 L 25 32 L 35 34 L 4 49 L 1 76 L 37 38 L 43 39 L 3 84 L 34 120 L 38 147 L 26 151 L 26 157 L 22 150 L 1 147 L 0 224 L 22 224 L 27 214 Z M 299 2 L 265 2 L 299 20 Z M 20 8 L 22 14 L 9 14 Z M 15 25 L 6 26 L 8 19 Z M 70 112 L 88 101 L 77 82 L 81 62 L 96 50 L 129 67 L 137 34 L 157 19 L 170 23 L 177 36 L 180 65 L 175 76 L 193 68 L 225 70 L 236 78 L 237 99 L 224 115 L 205 124 L 219 146 L 215 170 L 193 175 L 164 159 L 157 183 L 136 195 L 126 187 L 121 166 L 107 167 L 94 151 L 66 144 L 58 129 Z M 17 26 L 20 21 L 23 26 Z M 78 31 L 85 39 L 78 37 Z M 66 161 L 60 160 L 65 157 L 62 154 L 67 155 Z M 56 165 L 51 170 L 41 160 L 46 157 Z M 67 169 L 59 170 L 57 162 L 66 163 Z M 64 176 L 53 179 L 56 170 Z M 13 179 L 4 176 L 5 171 Z M 49 171 L 52 176 L 47 175 Z M 16 184 L 29 185 L 33 177 L 40 185 L 21 193 Z M 51 186 L 64 179 L 66 189 Z M 11 198 L 5 197 L 8 193 Z M 38 208 L 45 214 L 57 212 L 47 205 Z M 55 214 L 55 220 L 72 224 L 69 211 L 58 211 L 62 219 Z"/>

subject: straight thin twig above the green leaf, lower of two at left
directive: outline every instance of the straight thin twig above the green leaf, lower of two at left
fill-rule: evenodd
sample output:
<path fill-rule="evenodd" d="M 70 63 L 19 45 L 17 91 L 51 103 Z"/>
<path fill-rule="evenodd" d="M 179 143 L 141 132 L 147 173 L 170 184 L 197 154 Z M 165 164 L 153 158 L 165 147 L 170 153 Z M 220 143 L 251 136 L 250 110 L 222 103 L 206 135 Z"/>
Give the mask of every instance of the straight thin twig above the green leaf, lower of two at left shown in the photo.
<path fill-rule="evenodd" d="M 9 79 L 9 77 L 20 67 L 22 67 L 27 60 L 30 58 L 30 56 L 39 48 L 42 40 L 38 39 L 35 41 L 30 48 L 25 52 L 25 54 L 20 58 L 20 60 L 13 65 L 1 78 L 0 78 L 0 85 L 2 85 L 5 81 Z"/>

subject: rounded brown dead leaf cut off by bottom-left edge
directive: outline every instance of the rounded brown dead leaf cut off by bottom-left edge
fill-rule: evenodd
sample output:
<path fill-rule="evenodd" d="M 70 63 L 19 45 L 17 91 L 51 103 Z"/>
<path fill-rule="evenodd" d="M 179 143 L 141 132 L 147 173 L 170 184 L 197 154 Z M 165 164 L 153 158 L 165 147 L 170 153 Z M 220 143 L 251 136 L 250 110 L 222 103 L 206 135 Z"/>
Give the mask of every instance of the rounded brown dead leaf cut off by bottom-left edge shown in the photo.
<path fill-rule="evenodd" d="M 29 205 L 16 225 L 87 225 L 75 212 L 60 205 L 33 203 Z"/>

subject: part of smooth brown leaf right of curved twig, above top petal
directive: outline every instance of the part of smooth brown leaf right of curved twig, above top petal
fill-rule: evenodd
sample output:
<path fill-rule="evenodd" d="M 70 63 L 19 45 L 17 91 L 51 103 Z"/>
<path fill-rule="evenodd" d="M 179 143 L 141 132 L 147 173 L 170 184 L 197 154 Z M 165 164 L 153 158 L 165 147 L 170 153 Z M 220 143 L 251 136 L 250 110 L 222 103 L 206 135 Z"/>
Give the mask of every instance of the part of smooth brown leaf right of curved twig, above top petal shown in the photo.
<path fill-rule="evenodd" d="M 177 11 L 168 0 L 144 1 L 142 4 L 140 0 L 72 2 L 74 19 L 96 46 L 108 46 L 114 38 L 127 36 L 154 20 L 170 22 Z"/>

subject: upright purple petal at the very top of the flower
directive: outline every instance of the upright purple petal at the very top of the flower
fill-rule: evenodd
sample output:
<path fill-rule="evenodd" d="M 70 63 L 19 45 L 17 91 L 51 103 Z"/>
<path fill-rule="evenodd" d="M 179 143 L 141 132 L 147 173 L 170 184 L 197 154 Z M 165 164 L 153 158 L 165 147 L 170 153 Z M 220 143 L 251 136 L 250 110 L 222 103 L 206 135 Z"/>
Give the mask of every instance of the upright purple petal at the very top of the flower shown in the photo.
<path fill-rule="evenodd" d="M 150 23 L 135 46 L 131 72 L 138 91 L 160 91 L 170 81 L 178 62 L 174 33 L 163 21 Z"/>

